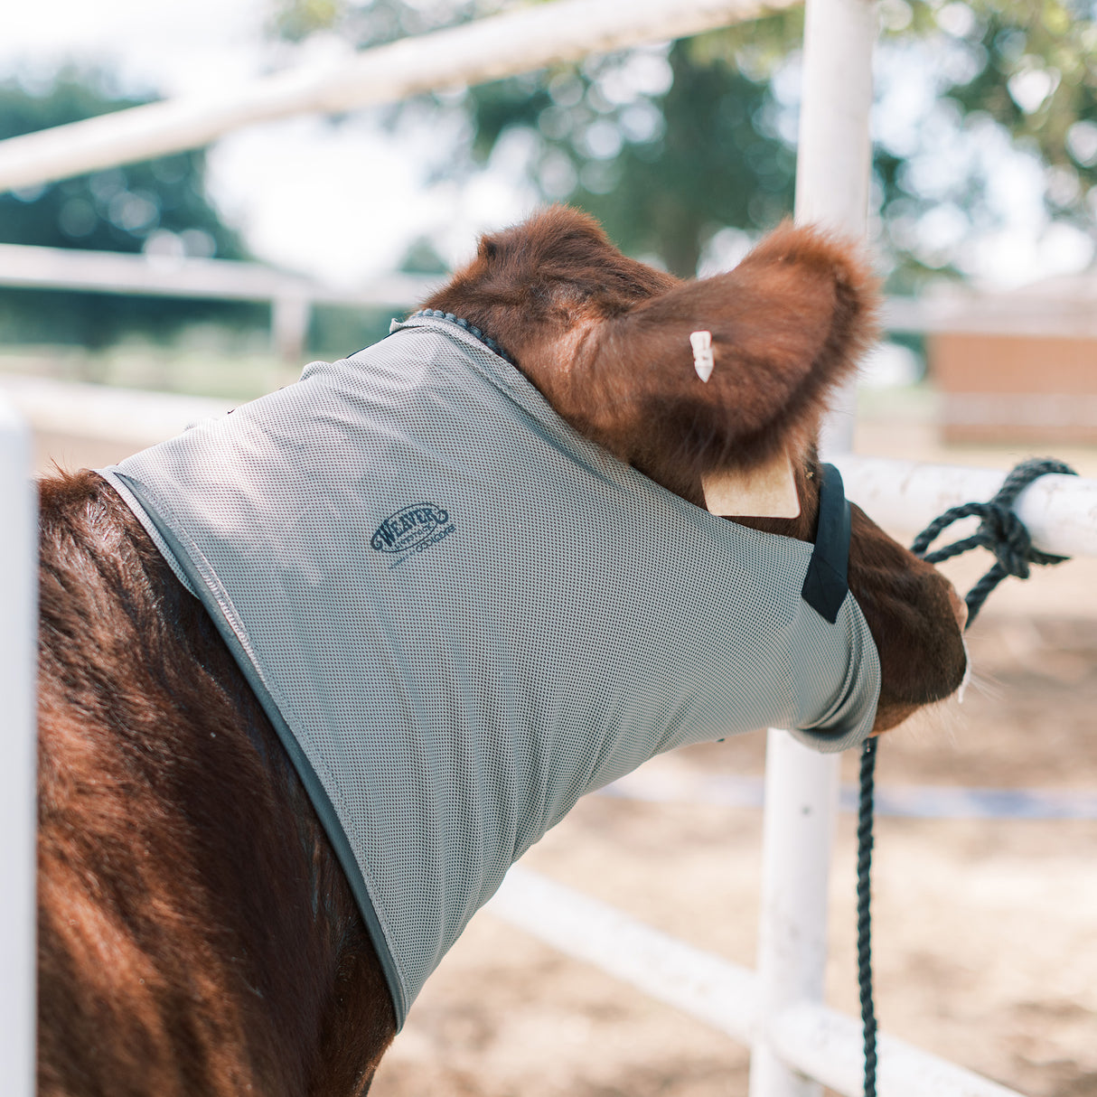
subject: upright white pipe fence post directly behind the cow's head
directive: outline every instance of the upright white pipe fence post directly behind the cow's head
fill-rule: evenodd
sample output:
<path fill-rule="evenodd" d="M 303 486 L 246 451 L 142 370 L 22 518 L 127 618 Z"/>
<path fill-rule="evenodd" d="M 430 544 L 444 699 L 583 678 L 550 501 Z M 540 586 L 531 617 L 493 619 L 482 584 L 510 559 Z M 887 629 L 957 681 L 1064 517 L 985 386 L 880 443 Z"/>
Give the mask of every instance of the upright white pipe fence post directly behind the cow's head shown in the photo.
<path fill-rule="evenodd" d="M 872 105 L 871 0 L 807 0 L 796 162 L 796 220 L 864 235 Z M 850 449 L 853 394 L 824 432 L 827 453 Z M 823 1000 L 827 877 L 838 811 L 838 758 L 770 731 L 766 759 L 762 894 L 758 930 L 759 1026 L 750 1097 L 817 1097 L 822 1086 L 780 1055 L 779 1016 Z"/>

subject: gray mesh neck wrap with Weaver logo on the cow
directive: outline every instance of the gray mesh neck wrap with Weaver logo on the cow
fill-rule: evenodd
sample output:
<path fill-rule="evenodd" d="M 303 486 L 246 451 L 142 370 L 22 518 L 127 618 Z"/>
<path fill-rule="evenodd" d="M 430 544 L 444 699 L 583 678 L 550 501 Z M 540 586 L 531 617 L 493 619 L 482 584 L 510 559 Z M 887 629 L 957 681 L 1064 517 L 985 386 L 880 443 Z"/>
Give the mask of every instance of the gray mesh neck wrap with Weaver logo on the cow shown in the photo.
<path fill-rule="evenodd" d="M 397 1019 L 585 792 L 766 725 L 868 734 L 852 598 L 811 545 L 691 506 L 512 366 L 416 318 L 103 471 L 202 599 L 302 776 Z"/>

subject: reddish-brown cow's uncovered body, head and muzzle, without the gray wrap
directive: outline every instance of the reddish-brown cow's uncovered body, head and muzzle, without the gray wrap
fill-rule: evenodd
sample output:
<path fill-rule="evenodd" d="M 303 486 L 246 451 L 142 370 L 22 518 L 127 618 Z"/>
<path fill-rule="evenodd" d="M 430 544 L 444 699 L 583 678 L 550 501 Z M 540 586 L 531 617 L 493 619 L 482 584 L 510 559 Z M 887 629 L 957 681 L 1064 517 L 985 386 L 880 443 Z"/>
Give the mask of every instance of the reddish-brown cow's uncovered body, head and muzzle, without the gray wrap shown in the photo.
<path fill-rule="evenodd" d="M 578 430 L 703 505 L 702 475 L 793 457 L 872 337 L 853 249 L 782 227 L 679 282 L 552 208 L 485 237 L 426 307 L 490 335 Z M 689 335 L 712 332 L 697 383 Z M 959 686 L 959 600 L 852 509 L 875 730 Z M 377 954 L 279 738 L 200 602 L 94 473 L 41 485 L 39 1092 L 364 1093 L 393 1038 Z"/>

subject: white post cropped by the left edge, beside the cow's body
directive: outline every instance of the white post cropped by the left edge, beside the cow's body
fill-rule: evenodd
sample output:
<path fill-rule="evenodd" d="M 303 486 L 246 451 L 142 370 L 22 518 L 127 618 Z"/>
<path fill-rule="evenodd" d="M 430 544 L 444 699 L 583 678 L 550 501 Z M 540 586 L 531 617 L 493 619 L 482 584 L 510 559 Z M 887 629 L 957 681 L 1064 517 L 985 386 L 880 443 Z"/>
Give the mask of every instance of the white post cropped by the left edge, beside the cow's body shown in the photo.
<path fill-rule="evenodd" d="M 30 434 L 0 397 L 0 1093 L 34 1094 L 36 538 Z"/>

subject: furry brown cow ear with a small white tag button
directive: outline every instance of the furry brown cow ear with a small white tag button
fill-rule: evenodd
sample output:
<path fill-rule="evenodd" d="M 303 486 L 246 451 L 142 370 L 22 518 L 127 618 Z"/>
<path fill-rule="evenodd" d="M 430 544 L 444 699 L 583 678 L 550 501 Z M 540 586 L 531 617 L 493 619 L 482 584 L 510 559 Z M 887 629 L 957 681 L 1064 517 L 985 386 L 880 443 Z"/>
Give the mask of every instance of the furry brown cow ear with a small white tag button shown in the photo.
<path fill-rule="evenodd" d="M 574 332 L 551 398 L 672 490 L 799 463 L 875 335 L 859 249 L 783 225 L 735 270 L 680 283 Z M 547 372 L 547 371 L 546 371 Z"/>

